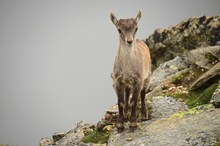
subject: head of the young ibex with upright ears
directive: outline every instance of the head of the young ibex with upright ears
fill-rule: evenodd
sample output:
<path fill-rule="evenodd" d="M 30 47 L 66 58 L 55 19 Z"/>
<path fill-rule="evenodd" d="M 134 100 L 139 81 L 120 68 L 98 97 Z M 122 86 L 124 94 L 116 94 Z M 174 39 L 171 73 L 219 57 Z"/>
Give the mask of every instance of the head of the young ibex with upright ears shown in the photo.
<path fill-rule="evenodd" d="M 138 30 L 137 24 L 141 18 L 142 12 L 139 10 L 135 18 L 117 20 L 116 16 L 111 12 L 110 18 L 118 29 L 120 40 L 131 46 Z"/>

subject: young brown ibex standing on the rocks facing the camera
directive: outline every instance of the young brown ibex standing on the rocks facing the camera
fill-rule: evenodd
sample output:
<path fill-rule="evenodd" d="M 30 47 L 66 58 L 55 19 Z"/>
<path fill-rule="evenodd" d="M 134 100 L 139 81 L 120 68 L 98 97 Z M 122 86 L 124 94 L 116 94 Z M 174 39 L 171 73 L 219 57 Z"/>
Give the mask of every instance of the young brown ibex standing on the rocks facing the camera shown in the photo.
<path fill-rule="evenodd" d="M 145 94 L 151 76 L 151 57 L 147 45 L 135 39 L 141 11 L 135 18 L 117 20 L 111 12 L 110 18 L 119 32 L 119 48 L 113 66 L 113 87 L 118 97 L 119 117 L 116 124 L 118 132 L 124 130 L 124 121 L 131 106 L 130 131 L 137 127 L 137 99 L 141 97 L 142 120 L 148 119 Z M 129 97 L 131 95 L 131 100 Z"/>

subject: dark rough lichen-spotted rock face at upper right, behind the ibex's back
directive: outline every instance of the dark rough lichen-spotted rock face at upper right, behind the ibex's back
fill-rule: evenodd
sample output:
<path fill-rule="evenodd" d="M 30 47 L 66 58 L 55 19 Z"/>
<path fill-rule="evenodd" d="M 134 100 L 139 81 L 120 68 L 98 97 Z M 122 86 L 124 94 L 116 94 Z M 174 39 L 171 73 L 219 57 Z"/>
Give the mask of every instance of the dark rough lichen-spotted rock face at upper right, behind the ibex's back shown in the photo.
<path fill-rule="evenodd" d="M 186 50 L 215 46 L 220 41 L 220 15 L 193 17 L 168 29 L 157 29 L 146 39 L 154 69 Z"/>

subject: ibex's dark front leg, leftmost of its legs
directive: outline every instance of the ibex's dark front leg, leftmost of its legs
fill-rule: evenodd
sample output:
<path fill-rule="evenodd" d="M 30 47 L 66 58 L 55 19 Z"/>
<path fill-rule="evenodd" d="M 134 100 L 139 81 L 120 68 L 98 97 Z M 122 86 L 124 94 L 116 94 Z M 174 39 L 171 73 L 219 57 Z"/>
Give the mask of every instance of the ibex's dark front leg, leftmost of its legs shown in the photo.
<path fill-rule="evenodd" d="M 124 96 L 125 96 L 125 88 L 122 84 L 118 84 L 115 87 L 116 94 L 118 96 L 118 109 L 119 109 L 119 115 L 118 115 L 118 123 L 116 124 L 116 127 L 118 129 L 118 132 L 121 133 L 124 130 Z"/>

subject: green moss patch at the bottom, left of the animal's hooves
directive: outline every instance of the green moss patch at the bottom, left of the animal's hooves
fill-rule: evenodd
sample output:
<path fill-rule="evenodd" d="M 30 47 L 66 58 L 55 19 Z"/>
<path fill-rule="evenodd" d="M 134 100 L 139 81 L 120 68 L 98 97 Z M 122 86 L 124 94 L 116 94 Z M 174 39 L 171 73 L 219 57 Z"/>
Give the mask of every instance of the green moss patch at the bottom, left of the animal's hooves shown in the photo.
<path fill-rule="evenodd" d="M 96 143 L 103 144 L 108 142 L 110 131 L 105 130 L 94 130 L 85 134 L 85 137 L 81 140 L 84 143 Z"/>

